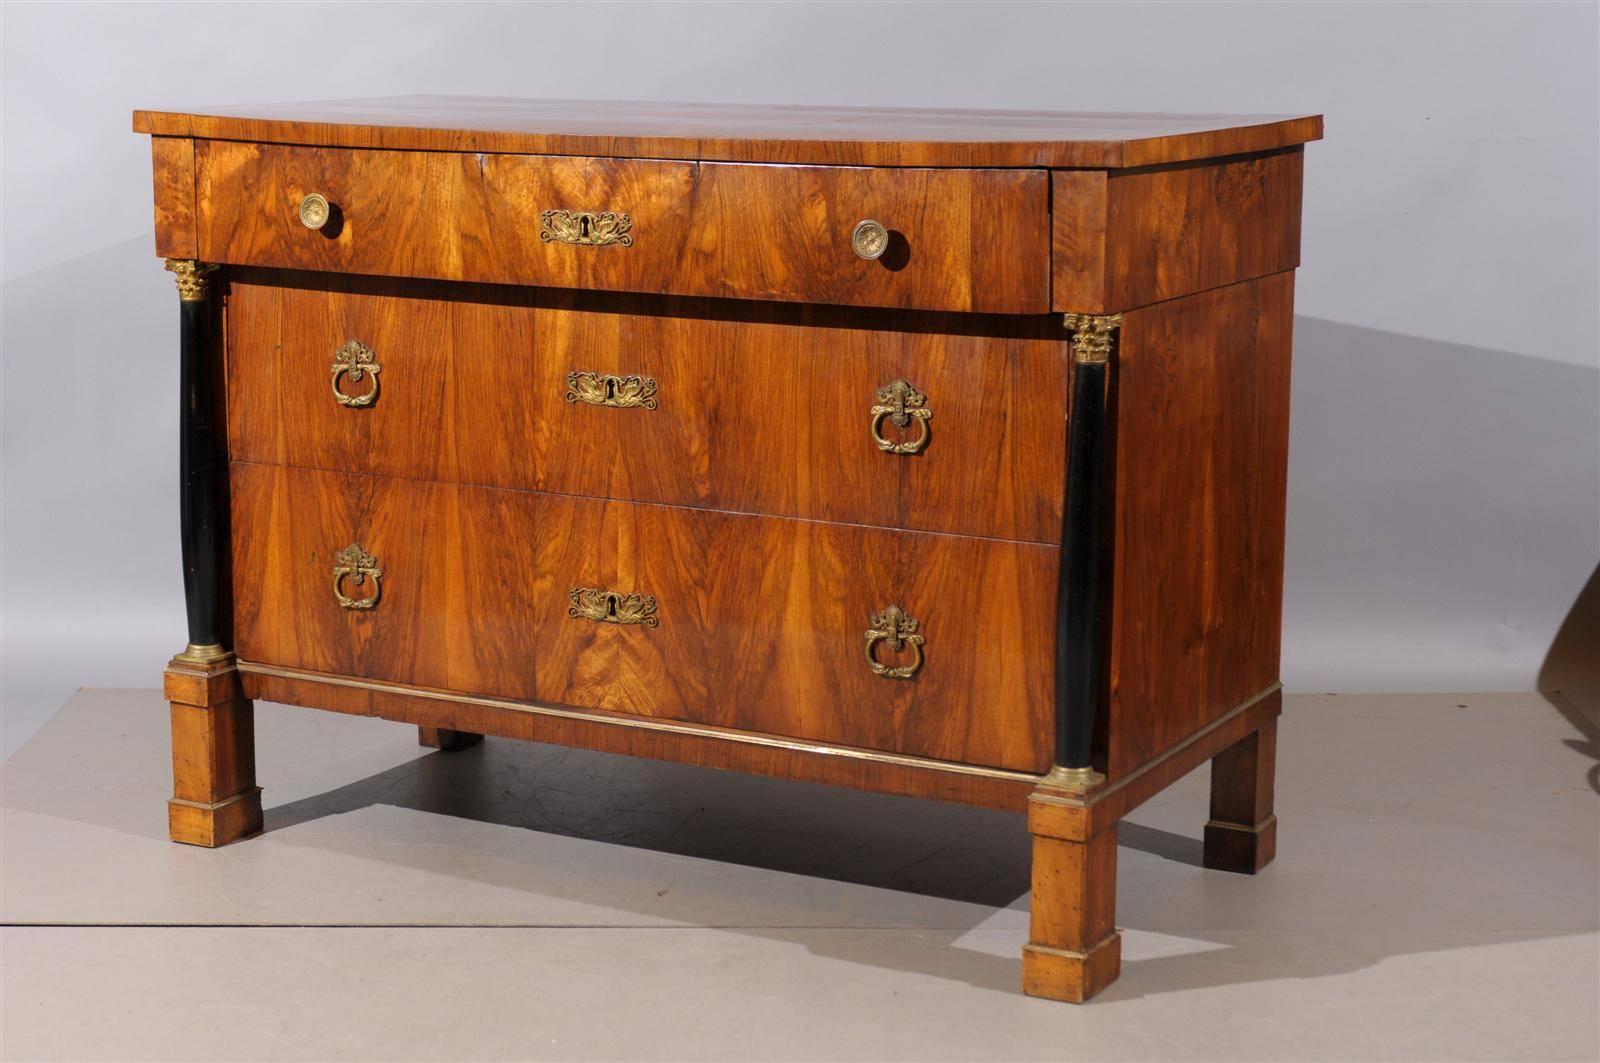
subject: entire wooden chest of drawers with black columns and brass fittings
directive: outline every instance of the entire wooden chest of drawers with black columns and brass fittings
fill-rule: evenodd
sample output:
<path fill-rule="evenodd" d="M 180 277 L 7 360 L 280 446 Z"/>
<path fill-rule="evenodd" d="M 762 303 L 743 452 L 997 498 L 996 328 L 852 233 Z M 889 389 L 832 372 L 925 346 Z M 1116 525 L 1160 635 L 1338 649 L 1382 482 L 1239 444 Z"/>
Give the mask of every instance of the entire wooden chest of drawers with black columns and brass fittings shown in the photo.
<path fill-rule="evenodd" d="M 1027 812 L 1024 989 L 1117 821 L 1272 858 L 1320 118 L 397 99 L 138 112 L 178 277 L 171 836 L 251 701 Z"/>

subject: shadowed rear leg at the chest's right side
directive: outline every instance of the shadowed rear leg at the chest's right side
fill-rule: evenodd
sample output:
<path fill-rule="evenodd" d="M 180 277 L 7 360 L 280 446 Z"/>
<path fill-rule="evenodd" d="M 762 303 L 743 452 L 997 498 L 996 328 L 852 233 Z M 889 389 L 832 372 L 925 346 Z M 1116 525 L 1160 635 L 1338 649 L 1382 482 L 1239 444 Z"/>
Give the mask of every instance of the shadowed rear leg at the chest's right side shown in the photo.
<path fill-rule="evenodd" d="M 1272 812 L 1277 717 L 1211 760 L 1211 821 L 1205 824 L 1205 866 L 1254 874 L 1278 850 Z"/>

